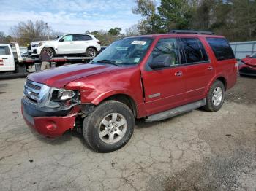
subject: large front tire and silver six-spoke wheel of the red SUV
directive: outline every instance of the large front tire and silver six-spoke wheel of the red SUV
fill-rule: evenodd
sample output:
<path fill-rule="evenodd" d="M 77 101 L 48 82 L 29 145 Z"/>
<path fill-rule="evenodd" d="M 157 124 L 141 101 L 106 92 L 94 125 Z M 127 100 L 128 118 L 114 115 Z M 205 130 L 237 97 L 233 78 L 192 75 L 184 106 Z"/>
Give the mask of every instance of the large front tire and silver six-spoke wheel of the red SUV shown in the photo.
<path fill-rule="evenodd" d="M 131 109 L 118 101 L 105 101 L 83 121 L 83 137 L 96 152 L 113 152 L 132 137 L 135 118 Z"/>

